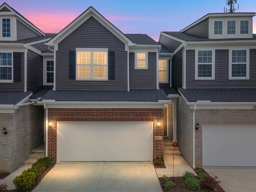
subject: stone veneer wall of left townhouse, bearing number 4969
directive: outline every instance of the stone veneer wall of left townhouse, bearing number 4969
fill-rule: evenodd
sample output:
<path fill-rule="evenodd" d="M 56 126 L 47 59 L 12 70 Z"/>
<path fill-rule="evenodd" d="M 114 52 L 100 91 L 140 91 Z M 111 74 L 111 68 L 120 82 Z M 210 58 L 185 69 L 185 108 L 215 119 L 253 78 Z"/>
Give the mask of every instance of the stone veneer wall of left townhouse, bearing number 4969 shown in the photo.
<path fill-rule="evenodd" d="M 6 135 L 2 133 L 4 126 Z M 44 143 L 43 106 L 29 104 L 20 106 L 15 113 L 0 114 L 0 131 L 0 171 L 13 172 L 34 148 Z"/>

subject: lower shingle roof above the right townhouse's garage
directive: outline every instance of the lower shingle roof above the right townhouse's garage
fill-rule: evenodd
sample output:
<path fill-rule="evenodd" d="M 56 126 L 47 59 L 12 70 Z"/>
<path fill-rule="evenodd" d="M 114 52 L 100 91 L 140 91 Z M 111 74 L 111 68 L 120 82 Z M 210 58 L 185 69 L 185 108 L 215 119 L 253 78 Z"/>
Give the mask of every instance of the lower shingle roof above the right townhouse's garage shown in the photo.
<path fill-rule="evenodd" d="M 256 102 L 256 88 L 178 89 L 189 102 Z"/>

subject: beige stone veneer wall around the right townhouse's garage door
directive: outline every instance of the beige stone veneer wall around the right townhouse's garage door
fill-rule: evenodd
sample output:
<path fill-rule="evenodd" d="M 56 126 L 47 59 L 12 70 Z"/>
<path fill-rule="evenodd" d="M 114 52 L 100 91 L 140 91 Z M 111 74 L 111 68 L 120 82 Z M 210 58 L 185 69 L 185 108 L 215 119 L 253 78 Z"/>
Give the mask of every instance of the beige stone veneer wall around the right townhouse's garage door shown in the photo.
<path fill-rule="evenodd" d="M 180 96 L 178 100 L 177 114 L 177 140 L 182 157 L 190 166 L 193 164 L 193 110 L 189 109 L 186 101 Z M 195 130 L 195 166 L 202 167 L 202 129 L 207 123 L 256 123 L 256 110 L 241 109 L 197 109 L 195 121 L 200 124 L 199 130 Z"/>

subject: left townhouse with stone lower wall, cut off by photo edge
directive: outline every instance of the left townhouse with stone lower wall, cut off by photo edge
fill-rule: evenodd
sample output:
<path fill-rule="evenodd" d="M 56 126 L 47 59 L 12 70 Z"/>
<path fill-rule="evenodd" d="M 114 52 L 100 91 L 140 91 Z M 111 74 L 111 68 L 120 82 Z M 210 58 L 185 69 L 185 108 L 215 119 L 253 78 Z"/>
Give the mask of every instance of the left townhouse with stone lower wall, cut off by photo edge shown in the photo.
<path fill-rule="evenodd" d="M 44 141 L 44 109 L 29 97 L 43 88 L 41 53 L 54 34 L 44 34 L 6 3 L 0 26 L 0 171 L 12 172 Z"/>

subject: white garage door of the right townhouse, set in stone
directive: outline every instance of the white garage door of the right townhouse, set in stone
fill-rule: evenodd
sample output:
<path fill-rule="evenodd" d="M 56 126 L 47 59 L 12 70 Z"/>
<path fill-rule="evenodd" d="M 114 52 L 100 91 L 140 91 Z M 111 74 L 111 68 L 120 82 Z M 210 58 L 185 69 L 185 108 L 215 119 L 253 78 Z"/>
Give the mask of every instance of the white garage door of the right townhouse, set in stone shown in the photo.
<path fill-rule="evenodd" d="M 203 124 L 203 166 L 255 167 L 256 124 Z"/>

